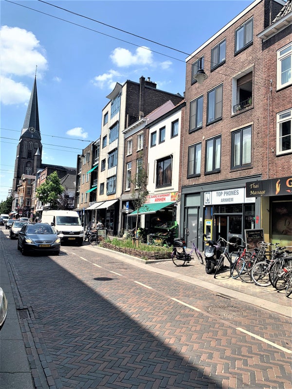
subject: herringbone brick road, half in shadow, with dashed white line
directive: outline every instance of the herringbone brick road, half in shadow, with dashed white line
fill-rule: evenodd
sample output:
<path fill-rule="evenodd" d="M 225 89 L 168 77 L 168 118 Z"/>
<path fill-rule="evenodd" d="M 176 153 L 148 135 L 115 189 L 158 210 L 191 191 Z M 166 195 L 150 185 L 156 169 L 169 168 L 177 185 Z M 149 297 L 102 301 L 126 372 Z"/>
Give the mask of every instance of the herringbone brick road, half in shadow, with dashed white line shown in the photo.
<path fill-rule="evenodd" d="M 5 245 L 50 388 L 291 389 L 289 318 L 114 253 Z"/>

